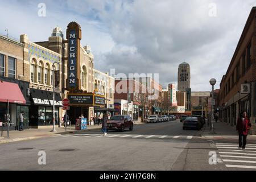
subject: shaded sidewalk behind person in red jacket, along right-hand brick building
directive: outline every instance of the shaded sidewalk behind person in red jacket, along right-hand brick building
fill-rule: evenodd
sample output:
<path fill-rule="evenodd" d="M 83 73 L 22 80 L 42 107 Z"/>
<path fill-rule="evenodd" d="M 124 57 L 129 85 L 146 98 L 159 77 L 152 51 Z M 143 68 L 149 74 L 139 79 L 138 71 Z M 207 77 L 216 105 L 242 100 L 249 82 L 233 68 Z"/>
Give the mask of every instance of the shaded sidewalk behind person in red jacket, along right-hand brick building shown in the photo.
<path fill-rule="evenodd" d="M 201 131 L 201 137 L 206 139 L 237 139 L 236 126 L 227 125 L 224 122 L 213 122 L 213 132 L 205 123 Z M 256 139 L 256 135 L 248 135 L 248 138 Z"/>

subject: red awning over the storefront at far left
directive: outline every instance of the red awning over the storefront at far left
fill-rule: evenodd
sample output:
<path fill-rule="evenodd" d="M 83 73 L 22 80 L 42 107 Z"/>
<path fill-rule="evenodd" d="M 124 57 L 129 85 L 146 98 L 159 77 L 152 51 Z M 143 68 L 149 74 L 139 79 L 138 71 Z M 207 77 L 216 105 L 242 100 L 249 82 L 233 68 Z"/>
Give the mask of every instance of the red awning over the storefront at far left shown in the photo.
<path fill-rule="evenodd" d="M 16 104 L 26 104 L 18 84 L 0 81 L 0 102 L 9 102 Z"/>

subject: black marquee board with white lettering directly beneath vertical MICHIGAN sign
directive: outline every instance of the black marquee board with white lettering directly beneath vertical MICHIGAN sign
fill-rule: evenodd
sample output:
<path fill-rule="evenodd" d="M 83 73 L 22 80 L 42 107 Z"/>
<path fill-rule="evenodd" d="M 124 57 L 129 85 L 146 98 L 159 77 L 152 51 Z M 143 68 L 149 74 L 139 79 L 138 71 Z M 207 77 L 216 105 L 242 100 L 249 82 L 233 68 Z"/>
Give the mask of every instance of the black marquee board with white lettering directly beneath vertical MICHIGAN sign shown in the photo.
<path fill-rule="evenodd" d="M 93 95 L 68 95 L 70 105 L 93 105 Z"/>

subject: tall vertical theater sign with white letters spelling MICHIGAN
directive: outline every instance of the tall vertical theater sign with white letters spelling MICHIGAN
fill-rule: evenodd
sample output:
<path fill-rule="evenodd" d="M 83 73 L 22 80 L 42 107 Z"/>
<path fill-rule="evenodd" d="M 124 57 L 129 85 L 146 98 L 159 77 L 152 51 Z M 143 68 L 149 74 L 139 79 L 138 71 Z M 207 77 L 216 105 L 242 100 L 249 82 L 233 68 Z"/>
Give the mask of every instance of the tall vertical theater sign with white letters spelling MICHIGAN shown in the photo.
<path fill-rule="evenodd" d="M 75 92 L 81 89 L 80 85 L 80 40 L 82 39 L 81 27 L 76 22 L 68 24 L 68 79 L 67 89 Z"/>

